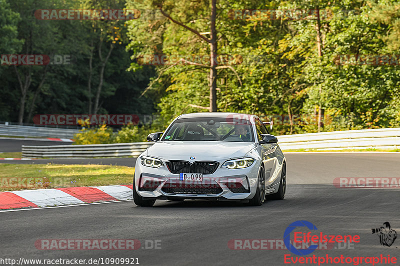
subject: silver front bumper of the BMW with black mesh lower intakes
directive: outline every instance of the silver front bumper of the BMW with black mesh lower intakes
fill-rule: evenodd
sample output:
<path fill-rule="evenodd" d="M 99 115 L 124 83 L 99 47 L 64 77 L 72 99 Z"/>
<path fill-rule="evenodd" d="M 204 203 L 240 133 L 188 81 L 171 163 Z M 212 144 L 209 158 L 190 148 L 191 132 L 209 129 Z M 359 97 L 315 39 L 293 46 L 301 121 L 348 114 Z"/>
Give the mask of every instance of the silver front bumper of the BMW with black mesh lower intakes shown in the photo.
<path fill-rule="evenodd" d="M 257 188 L 259 161 L 249 167 L 228 169 L 220 167 L 212 174 L 204 174 L 202 181 L 180 181 L 179 174 L 172 174 L 165 166 L 151 168 L 137 160 L 134 189 L 149 199 L 218 199 L 249 200 Z"/>

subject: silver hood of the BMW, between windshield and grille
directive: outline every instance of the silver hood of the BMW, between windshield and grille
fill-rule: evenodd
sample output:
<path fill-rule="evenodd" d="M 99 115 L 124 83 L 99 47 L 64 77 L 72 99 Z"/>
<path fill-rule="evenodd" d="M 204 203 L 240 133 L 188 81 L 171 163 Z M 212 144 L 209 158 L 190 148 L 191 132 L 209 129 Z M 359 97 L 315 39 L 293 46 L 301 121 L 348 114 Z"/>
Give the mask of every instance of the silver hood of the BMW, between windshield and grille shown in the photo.
<path fill-rule="evenodd" d="M 254 142 L 221 141 L 158 141 L 147 149 L 147 156 L 161 159 L 196 160 L 211 158 L 241 158 L 255 147 Z"/>

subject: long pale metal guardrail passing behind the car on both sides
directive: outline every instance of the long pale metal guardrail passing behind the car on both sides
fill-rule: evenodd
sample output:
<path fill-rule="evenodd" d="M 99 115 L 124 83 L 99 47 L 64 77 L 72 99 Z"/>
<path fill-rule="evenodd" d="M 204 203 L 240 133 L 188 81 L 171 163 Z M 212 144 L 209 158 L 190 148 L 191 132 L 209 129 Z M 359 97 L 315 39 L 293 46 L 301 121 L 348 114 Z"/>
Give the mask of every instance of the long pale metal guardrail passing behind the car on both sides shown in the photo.
<path fill-rule="evenodd" d="M 93 158 L 138 156 L 152 142 L 95 145 L 22 145 L 23 158 Z M 315 149 L 396 149 L 400 148 L 400 128 L 362 129 L 278 136 L 279 147 L 285 150 Z"/>

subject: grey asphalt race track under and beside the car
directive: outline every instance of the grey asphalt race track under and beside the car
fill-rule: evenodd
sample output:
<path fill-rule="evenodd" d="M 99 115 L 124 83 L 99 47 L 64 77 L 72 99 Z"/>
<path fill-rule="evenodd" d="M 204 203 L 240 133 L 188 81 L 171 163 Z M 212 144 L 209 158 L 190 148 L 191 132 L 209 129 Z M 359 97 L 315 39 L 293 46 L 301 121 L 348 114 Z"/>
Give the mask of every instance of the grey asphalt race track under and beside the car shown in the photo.
<path fill-rule="evenodd" d="M 390 255 L 398 264 L 400 237 L 391 247 L 383 247 L 371 228 L 389 222 L 391 229 L 400 233 L 400 190 L 337 188 L 332 182 L 336 177 L 399 178 L 400 153 L 299 153 L 286 154 L 286 158 L 285 199 L 267 201 L 260 207 L 186 200 L 157 201 L 153 208 L 144 208 L 124 201 L 1 212 L 0 257 L 138 258 L 142 266 L 284 265 L 285 255 L 298 257 L 285 249 L 231 250 L 227 243 L 234 239 L 281 240 L 287 226 L 306 220 L 317 227 L 313 234 L 360 237 L 359 243 L 346 249 L 334 244 L 331 250 L 316 250 L 308 256 Z M 38 250 L 34 243 L 41 239 L 137 239 L 141 248 Z M 151 241 L 160 241 L 160 249 L 146 249 L 145 243 Z"/>

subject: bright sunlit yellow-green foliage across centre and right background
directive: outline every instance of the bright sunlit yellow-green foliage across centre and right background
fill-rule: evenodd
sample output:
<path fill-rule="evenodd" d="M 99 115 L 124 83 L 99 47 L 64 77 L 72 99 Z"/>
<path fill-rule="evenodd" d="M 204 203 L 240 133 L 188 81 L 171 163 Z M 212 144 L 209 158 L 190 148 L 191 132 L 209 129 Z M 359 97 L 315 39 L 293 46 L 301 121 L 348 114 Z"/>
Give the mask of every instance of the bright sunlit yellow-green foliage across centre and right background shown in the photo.
<path fill-rule="evenodd" d="M 207 28 L 209 2 L 183 0 L 127 6 L 157 8 L 201 31 Z M 185 8 L 182 8 L 184 6 Z M 316 49 L 315 19 L 232 20 L 229 9 L 321 9 L 322 56 Z M 321 104 L 324 131 L 390 127 L 399 124 L 398 66 L 338 65 L 340 54 L 396 54 L 399 45 L 398 2 L 391 0 L 332 2 L 218 1 L 218 54 L 257 55 L 247 62 L 218 70 L 218 110 L 268 115 L 313 115 Z M 194 19 L 196 18 L 196 19 Z M 208 46 L 187 29 L 166 18 L 128 22 L 133 57 L 143 54 L 207 54 Z M 138 34 L 139 33 L 139 34 Z M 193 65 L 155 66 L 159 75 L 153 92 L 161 96 L 158 109 L 165 122 L 178 114 L 205 111 L 208 105 L 207 68 Z M 241 84 L 240 84 L 240 81 Z M 321 93 L 319 93 L 321 89 Z M 149 91 L 148 93 L 151 93 Z M 166 124 L 165 124 L 166 125 Z M 289 121 L 275 134 L 315 132 L 317 125 Z"/>

